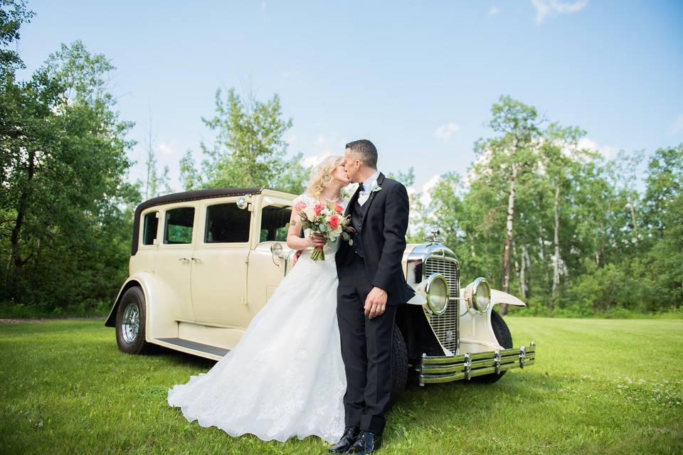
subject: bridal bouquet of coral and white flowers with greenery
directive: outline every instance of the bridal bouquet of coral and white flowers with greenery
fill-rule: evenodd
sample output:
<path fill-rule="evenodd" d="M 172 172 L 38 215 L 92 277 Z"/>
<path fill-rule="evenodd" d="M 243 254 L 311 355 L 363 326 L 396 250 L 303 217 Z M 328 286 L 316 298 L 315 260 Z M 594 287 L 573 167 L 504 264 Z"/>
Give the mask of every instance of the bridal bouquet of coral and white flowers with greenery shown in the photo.
<path fill-rule="evenodd" d="M 303 200 L 295 205 L 295 210 L 301 217 L 303 229 L 310 229 L 311 232 L 324 235 L 327 240 L 336 242 L 339 237 L 353 245 L 351 240 L 351 215 L 344 216 L 344 208 L 342 205 L 335 203 L 315 204 L 309 207 Z M 315 247 L 311 253 L 311 259 L 314 261 L 325 260 L 325 253 L 322 247 Z"/>

